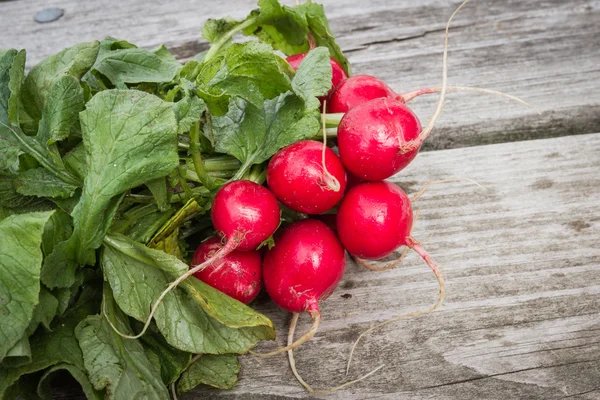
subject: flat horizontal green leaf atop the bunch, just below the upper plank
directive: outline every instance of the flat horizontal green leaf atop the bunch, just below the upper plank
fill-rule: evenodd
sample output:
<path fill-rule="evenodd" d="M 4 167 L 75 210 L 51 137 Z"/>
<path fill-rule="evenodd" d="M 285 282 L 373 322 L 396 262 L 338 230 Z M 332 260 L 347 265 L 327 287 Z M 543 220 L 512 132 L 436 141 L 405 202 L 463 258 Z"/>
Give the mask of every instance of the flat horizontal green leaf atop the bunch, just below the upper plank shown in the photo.
<path fill-rule="evenodd" d="M 126 89 L 126 83 L 170 82 L 181 69 L 181 64 L 166 57 L 165 51 L 138 49 L 131 43 L 107 38 L 100 44 L 98 58 L 91 71 L 102 74 L 118 89 Z"/>

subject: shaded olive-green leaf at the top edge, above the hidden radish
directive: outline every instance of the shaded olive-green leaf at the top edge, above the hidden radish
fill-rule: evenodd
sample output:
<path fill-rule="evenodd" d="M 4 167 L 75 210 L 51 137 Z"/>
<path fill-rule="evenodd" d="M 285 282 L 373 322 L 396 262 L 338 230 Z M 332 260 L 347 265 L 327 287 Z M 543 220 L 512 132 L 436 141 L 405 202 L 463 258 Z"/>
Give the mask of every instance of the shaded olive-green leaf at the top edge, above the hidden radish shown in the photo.
<path fill-rule="evenodd" d="M 308 22 L 302 8 L 282 6 L 277 0 L 259 0 L 258 10 L 250 15 L 256 23 L 244 29 L 287 55 L 308 50 Z"/>

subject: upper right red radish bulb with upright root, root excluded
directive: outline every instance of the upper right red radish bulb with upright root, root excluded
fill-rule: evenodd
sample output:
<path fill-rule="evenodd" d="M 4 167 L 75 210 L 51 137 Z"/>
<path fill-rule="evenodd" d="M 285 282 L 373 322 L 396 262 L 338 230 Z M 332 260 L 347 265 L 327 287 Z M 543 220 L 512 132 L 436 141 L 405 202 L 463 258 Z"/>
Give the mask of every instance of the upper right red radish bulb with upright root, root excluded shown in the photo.
<path fill-rule="evenodd" d="M 370 100 L 351 108 L 340 121 L 340 158 L 356 177 L 383 180 L 417 156 L 419 133 L 421 123 L 406 105 L 385 97 Z"/>

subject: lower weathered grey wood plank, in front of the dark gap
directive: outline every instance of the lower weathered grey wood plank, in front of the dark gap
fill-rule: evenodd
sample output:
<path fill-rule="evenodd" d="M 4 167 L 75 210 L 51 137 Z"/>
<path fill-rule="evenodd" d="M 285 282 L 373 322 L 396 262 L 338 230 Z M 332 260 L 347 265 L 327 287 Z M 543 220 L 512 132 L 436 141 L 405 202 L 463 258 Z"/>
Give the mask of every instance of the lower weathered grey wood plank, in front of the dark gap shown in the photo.
<path fill-rule="evenodd" d="M 395 180 L 417 201 L 415 236 L 442 265 L 448 298 L 438 312 L 397 322 L 357 347 L 352 378 L 385 368 L 331 399 L 600 398 L 600 134 L 419 155 Z M 296 352 L 316 388 L 342 383 L 352 342 L 376 321 L 428 307 L 437 286 L 414 254 L 402 267 L 371 272 L 350 263 L 322 303 L 320 332 Z M 260 311 L 287 335 L 289 315 Z M 309 318 L 301 318 L 299 331 Z M 273 344 L 261 349 L 272 348 Z M 242 357 L 226 399 L 309 398 L 285 356 Z M 572 397 L 569 397 L 572 396 Z"/>

